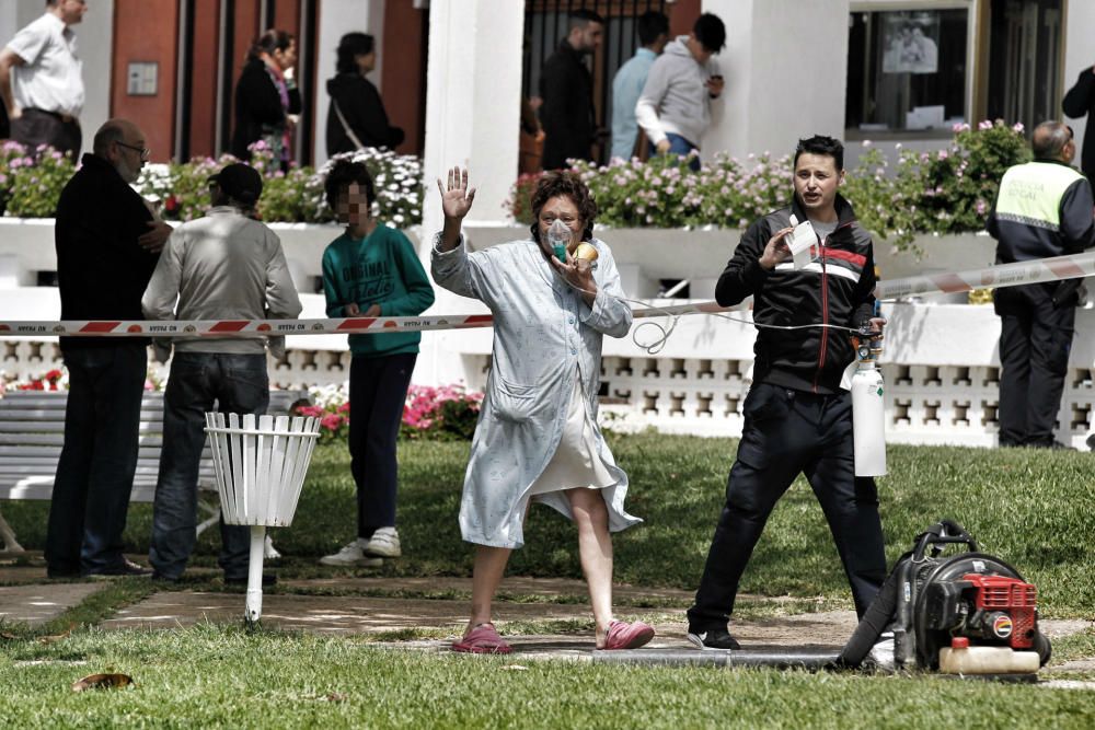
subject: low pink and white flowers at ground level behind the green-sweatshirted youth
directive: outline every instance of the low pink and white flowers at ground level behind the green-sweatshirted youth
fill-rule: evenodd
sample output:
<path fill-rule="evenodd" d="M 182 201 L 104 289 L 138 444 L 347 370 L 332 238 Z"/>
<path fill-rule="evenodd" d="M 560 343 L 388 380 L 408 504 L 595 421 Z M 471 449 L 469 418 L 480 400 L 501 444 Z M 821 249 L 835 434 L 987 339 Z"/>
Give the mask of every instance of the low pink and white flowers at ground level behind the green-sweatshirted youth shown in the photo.
<path fill-rule="evenodd" d="M 350 404 L 345 385 L 321 385 L 308 391 L 312 403 L 293 408 L 298 416 L 320 419 L 320 441 L 343 440 L 349 434 Z M 400 438 L 438 441 L 469 440 L 475 432 L 482 393 L 462 385 L 412 385 L 400 422 Z"/>

